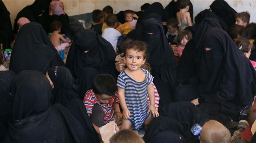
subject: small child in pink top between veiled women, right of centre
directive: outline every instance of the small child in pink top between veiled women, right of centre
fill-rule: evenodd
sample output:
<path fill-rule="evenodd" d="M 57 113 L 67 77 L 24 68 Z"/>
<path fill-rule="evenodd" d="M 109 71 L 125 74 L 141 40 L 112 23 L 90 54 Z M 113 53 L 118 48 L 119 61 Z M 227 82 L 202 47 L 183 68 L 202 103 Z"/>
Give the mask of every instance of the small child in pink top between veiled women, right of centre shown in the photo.
<path fill-rule="evenodd" d="M 185 49 L 185 46 L 190 39 L 192 39 L 191 32 L 182 30 L 178 33 L 177 42 L 179 45 L 176 47 L 176 49 L 174 49 L 174 55 L 177 63 L 180 61 L 182 52 Z"/>

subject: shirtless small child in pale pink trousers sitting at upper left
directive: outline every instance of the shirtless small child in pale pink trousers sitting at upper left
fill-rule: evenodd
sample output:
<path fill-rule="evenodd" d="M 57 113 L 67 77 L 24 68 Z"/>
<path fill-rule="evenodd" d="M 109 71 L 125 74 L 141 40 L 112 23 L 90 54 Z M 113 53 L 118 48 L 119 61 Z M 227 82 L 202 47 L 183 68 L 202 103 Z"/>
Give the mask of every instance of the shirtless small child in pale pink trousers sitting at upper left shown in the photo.
<path fill-rule="evenodd" d="M 71 43 L 70 39 L 65 39 L 63 37 L 65 36 L 64 34 L 63 35 L 59 34 L 61 31 L 61 27 L 62 25 L 59 21 L 54 21 L 51 24 L 52 33 L 51 33 L 50 40 L 57 51 L 64 50 L 66 47 L 69 47 L 70 46 L 69 43 Z M 63 43 L 61 43 L 61 41 Z"/>

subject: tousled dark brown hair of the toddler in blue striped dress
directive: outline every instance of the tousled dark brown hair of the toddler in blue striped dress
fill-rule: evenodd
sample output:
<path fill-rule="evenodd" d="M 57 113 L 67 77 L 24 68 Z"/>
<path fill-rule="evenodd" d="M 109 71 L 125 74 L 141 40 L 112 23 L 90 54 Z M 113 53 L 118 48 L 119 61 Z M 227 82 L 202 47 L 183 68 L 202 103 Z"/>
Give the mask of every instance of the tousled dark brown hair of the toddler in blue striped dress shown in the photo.
<path fill-rule="evenodd" d="M 134 49 L 135 51 L 143 51 L 144 52 L 144 59 L 148 59 L 148 51 L 147 51 L 147 43 L 138 41 L 138 40 L 132 40 L 132 39 L 126 39 L 121 44 L 121 49 L 124 52 L 124 56 L 126 55 L 127 49 Z"/>

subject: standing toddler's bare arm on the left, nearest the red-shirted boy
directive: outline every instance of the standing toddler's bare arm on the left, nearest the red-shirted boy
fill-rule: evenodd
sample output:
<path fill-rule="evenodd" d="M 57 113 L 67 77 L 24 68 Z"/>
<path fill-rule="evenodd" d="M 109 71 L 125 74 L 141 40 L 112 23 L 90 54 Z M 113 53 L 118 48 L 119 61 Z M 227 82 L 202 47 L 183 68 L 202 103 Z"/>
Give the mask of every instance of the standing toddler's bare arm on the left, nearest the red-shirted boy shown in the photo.
<path fill-rule="evenodd" d="M 117 93 L 118 93 L 120 105 L 122 107 L 122 116 L 124 119 L 130 119 L 130 111 L 128 110 L 125 103 L 124 89 L 117 87 Z"/>

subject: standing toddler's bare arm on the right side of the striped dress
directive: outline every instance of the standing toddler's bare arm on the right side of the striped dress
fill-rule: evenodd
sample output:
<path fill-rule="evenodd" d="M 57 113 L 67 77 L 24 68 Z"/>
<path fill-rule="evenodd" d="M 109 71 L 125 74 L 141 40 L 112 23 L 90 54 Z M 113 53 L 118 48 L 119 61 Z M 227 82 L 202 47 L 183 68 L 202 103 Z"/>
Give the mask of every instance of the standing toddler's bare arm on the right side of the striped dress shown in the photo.
<path fill-rule="evenodd" d="M 148 91 L 148 98 L 150 101 L 150 107 L 148 108 L 147 113 L 149 113 L 151 111 L 154 117 L 158 117 L 159 113 L 156 110 L 156 106 L 155 106 L 155 91 L 154 91 L 154 87 L 153 87 L 152 83 L 150 85 L 148 85 L 147 91 Z"/>

